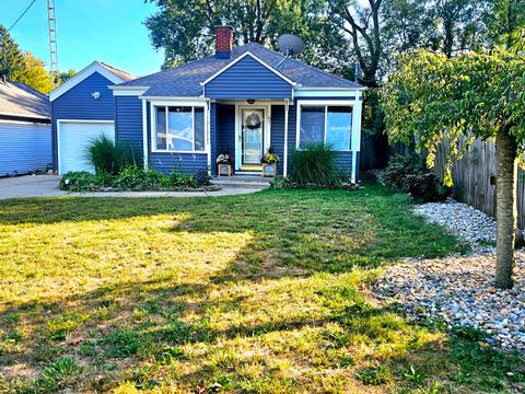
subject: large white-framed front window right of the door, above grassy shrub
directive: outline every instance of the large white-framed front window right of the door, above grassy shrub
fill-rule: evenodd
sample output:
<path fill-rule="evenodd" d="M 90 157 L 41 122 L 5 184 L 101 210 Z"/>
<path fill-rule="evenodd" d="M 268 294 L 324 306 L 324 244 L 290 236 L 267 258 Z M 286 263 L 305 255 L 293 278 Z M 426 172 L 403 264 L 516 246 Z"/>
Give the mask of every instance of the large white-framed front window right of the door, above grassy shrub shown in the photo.
<path fill-rule="evenodd" d="M 336 151 L 349 151 L 352 107 L 347 105 L 300 105 L 299 148 L 325 143 Z"/>

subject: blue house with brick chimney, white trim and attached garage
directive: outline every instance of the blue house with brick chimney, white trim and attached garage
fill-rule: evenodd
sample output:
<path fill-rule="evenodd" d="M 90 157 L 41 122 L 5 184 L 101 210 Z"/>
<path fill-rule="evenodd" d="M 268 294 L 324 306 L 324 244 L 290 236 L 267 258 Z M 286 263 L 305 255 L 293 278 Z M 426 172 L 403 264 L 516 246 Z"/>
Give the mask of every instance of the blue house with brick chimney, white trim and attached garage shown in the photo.
<path fill-rule="evenodd" d="M 214 56 L 142 78 L 93 63 L 51 92 L 55 169 L 80 169 L 85 136 L 114 132 L 140 152 L 144 166 L 164 173 L 215 174 L 223 150 L 235 158 L 236 173 L 260 173 L 260 158 L 272 147 L 281 158 L 278 173 L 288 175 L 295 149 L 326 142 L 355 182 L 363 88 L 258 44 L 234 48 L 230 26 L 218 26 L 215 35 Z"/>

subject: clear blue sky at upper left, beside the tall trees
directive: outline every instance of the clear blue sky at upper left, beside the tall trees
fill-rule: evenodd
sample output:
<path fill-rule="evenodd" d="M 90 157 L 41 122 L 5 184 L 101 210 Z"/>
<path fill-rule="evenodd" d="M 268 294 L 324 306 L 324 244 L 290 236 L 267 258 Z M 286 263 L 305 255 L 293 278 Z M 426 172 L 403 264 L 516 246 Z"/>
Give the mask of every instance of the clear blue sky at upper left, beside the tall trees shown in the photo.
<path fill-rule="evenodd" d="M 9 27 L 32 0 L 0 0 L 0 23 Z M 159 71 L 162 51 L 150 44 L 142 24 L 155 12 L 143 0 L 55 0 L 61 71 L 81 70 L 93 60 L 144 76 Z M 49 61 L 46 0 L 36 0 L 11 30 L 20 48 Z"/>

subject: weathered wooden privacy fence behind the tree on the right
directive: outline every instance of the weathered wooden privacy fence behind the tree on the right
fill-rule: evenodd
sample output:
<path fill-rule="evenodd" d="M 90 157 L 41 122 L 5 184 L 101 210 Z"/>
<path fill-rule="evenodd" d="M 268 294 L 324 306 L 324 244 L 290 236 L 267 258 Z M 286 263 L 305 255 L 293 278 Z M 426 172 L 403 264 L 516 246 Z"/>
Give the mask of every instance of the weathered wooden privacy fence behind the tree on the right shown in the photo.
<path fill-rule="evenodd" d="M 443 142 L 435 155 L 435 173 L 443 178 L 448 142 Z M 454 164 L 454 198 L 495 217 L 495 143 L 476 140 L 465 157 Z M 517 176 L 517 225 L 525 229 L 525 173 Z"/>

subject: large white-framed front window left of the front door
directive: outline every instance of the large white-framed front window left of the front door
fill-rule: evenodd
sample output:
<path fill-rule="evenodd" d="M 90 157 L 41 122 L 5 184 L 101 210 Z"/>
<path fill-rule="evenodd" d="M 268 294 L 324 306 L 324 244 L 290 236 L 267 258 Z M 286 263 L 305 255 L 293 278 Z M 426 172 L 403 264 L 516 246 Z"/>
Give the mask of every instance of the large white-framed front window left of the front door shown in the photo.
<path fill-rule="evenodd" d="M 205 151 L 205 108 L 155 106 L 154 143 L 156 151 Z"/>

